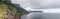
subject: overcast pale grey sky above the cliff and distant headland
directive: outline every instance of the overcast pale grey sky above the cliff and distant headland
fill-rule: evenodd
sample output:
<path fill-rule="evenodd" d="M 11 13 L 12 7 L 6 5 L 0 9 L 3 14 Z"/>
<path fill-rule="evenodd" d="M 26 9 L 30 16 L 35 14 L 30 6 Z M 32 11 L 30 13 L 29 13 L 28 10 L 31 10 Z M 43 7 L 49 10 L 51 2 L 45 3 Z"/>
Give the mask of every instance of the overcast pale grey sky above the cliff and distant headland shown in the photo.
<path fill-rule="evenodd" d="M 11 1 L 12 3 L 20 4 L 21 5 L 20 7 L 25 8 L 26 10 L 47 9 L 45 11 L 60 12 L 60 0 L 11 0 Z"/>

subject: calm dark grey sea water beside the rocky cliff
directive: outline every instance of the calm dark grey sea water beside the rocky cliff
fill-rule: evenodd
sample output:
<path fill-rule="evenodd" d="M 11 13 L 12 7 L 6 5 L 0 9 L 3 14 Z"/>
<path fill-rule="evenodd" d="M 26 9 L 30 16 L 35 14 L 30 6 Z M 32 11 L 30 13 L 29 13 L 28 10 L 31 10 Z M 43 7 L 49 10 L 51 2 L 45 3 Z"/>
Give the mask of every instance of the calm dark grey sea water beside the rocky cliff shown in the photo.
<path fill-rule="evenodd" d="M 22 19 L 60 19 L 60 13 L 30 13 L 22 16 Z"/>

